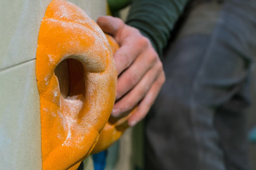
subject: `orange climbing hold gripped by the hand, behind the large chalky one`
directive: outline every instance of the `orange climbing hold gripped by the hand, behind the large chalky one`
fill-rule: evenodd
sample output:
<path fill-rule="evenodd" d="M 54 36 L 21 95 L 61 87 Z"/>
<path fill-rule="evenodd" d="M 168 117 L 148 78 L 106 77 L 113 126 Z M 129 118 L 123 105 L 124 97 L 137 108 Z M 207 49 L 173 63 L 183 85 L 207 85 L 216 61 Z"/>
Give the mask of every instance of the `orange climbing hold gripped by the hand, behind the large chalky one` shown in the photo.
<path fill-rule="evenodd" d="M 113 37 L 109 35 L 106 35 L 106 37 L 109 41 L 112 53 L 114 55 L 116 53 L 116 50 L 119 48 L 119 45 Z M 112 117 L 109 118 L 108 123 L 100 132 L 99 141 L 95 145 L 92 154 L 97 154 L 98 152 L 106 150 L 122 136 L 125 130 L 129 128 L 129 125 L 127 123 L 128 118 L 136 111 L 136 109 L 137 107 L 132 109 L 132 111 L 124 113 L 124 115 L 126 116 L 119 120 L 114 120 L 114 118 Z"/>

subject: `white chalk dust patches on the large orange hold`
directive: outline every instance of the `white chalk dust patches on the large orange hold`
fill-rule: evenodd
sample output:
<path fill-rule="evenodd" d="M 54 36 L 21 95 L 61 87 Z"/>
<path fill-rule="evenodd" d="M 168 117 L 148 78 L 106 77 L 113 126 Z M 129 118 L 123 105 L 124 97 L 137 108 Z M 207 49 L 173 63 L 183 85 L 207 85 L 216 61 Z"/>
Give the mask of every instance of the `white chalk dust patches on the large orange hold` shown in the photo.
<path fill-rule="evenodd" d="M 59 6 L 59 10 L 57 11 L 60 11 L 60 12 L 54 13 L 53 18 L 45 19 L 45 20 L 47 22 L 61 22 L 61 27 L 64 29 L 71 28 L 74 31 L 80 31 L 80 30 L 82 32 L 86 31 L 92 37 L 94 37 L 93 45 L 91 47 L 88 47 L 89 49 L 92 49 L 92 50 L 85 50 L 86 53 L 82 55 L 87 58 L 87 63 L 90 63 L 91 65 L 93 65 L 91 67 L 93 68 L 92 70 L 94 72 L 97 72 L 98 70 L 100 72 L 104 71 L 105 69 L 102 69 L 102 65 L 106 65 L 106 63 L 102 61 L 106 61 L 104 57 L 108 56 L 108 53 L 106 52 L 107 50 L 109 50 L 109 48 L 107 46 L 108 44 L 107 39 L 103 35 L 102 30 L 99 27 L 95 27 L 92 20 L 88 18 L 87 14 L 78 7 L 76 8 L 75 12 L 74 11 L 70 12 L 68 6 L 61 5 Z M 62 19 L 63 20 L 67 19 L 69 21 L 63 21 Z M 86 28 L 89 28 L 91 30 L 88 30 Z M 69 46 L 72 46 L 73 48 L 80 47 L 79 43 L 80 42 L 71 41 L 69 42 Z M 51 56 L 48 56 L 48 57 L 51 63 Z M 111 64 L 111 63 L 108 63 L 108 64 Z M 112 64 L 114 65 L 114 62 Z M 100 82 L 99 84 L 101 84 L 101 86 L 107 85 L 108 84 L 107 82 L 111 80 L 110 75 L 108 74 L 111 74 L 111 73 L 108 72 L 107 75 L 106 74 L 102 75 L 102 74 L 103 73 L 101 73 L 100 76 L 98 75 L 99 78 L 97 77 L 98 81 L 96 82 Z M 95 78 L 92 80 L 95 80 Z M 46 83 L 48 82 L 46 81 Z M 96 84 L 96 83 L 94 82 L 92 84 Z M 108 101 L 108 97 L 106 96 L 108 88 L 104 88 L 105 90 L 103 89 L 99 90 L 101 86 L 97 86 L 96 88 L 98 90 L 98 93 L 97 93 L 98 102 L 92 103 L 93 108 L 97 108 L 95 113 L 92 115 L 90 114 L 89 117 L 86 117 L 87 120 L 82 120 L 82 123 L 77 122 L 77 114 L 81 111 L 83 107 L 83 101 L 79 99 L 79 96 L 68 96 L 66 99 L 62 100 L 62 105 L 65 105 L 63 106 L 63 108 L 65 109 L 62 109 L 61 111 L 62 113 L 59 113 L 59 112 L 58 113 L 61 114 L 61 116 L 63 116 L 61 117 L 63 118 L 63 121 L 62 121 L 63 127 L 67 132 L 66 134 L 67 136 L 63 145 L 66 145 L 66 146 L 75 145 L 76 147 L 82 147 L 82 146 L 79 146 L 79 143 L 81 143 L 84 140 L 84 134 L 86 134 L 86 132 L 89 129 L 91 129 L 92 123 L 95 124 L 98 122 L 97 119 L 102 113 L 102 108 L 106 106 L 105 103 L 106 101 Z M 92 89 L 95 89 L 95 88 L 92 88 Z M 57 97 L 55 94 L 54 96 Z M 99 102 L 99 101 L 102 101 L 102 102 Z M 102 107 L 98 108 L 99 105 Z"/>

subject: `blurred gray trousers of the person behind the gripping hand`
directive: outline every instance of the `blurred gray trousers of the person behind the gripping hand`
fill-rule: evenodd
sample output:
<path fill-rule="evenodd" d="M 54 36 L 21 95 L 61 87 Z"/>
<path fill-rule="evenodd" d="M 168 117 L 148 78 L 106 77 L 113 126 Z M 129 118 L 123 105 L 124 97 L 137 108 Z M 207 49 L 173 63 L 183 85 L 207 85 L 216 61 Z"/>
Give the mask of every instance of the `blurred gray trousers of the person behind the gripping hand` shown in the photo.
<path fill-rule="evenodd" d="M 256 1 L 196 1 L 178 24 L 163 57 L 166 82 L 145 121 L 145 169 L 250 169 Z"/>

